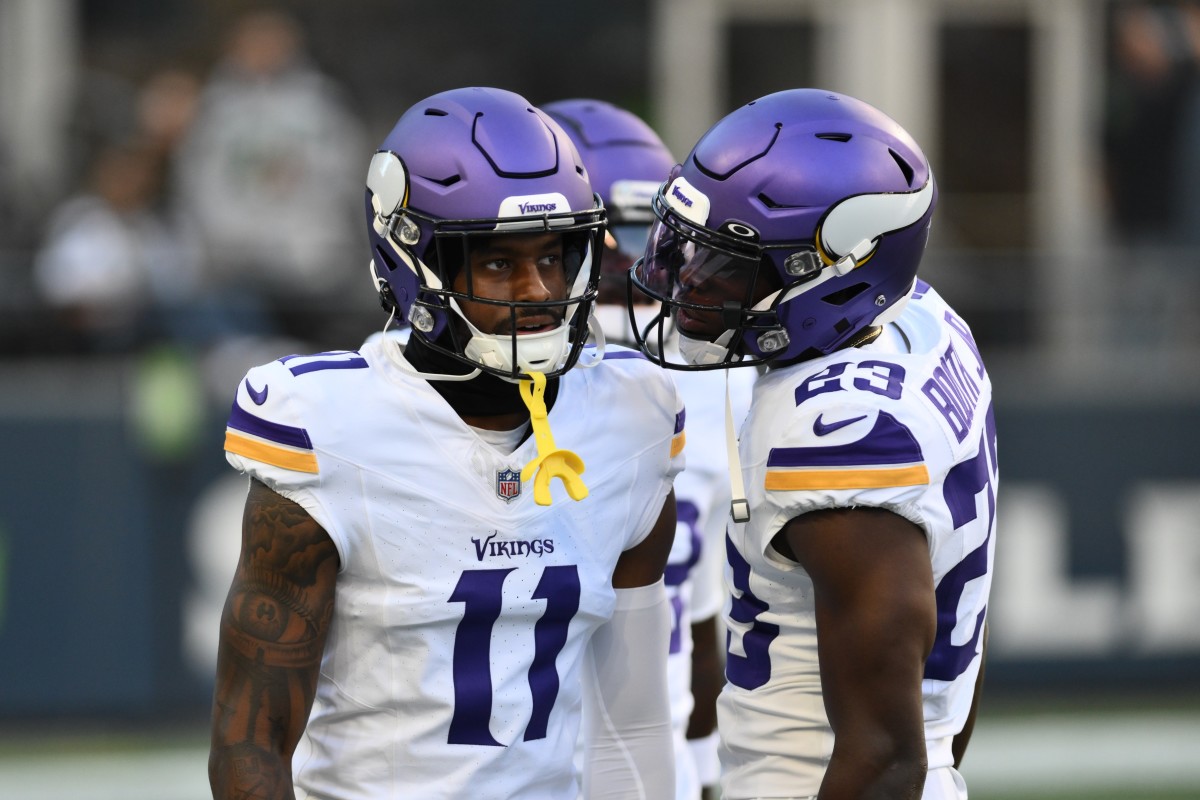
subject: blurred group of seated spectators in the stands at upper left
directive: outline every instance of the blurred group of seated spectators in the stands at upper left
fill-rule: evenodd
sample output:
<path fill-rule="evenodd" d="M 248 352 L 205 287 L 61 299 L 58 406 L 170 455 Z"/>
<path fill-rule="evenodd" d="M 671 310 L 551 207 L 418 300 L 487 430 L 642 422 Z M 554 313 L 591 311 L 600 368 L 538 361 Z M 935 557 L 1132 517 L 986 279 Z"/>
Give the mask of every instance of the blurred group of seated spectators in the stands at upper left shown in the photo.
<path fill-rule="evenodd" d="M 84 85 L 76 185 L 41 225 L 4 231 L 5 269 L 24 272 L 8 284 L 30 300 L 11 309 L 5 355 L 361 341 L 376 321 L 361 313 L 367 143 L 295 19 L 245 14 L 204 73 Z"/>

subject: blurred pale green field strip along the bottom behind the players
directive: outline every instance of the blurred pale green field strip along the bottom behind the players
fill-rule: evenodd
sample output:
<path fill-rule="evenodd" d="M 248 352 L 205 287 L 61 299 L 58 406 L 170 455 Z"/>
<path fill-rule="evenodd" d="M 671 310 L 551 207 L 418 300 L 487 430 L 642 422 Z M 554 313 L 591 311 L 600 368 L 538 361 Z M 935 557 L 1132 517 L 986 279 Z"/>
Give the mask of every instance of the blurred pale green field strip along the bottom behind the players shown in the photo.
<path fill-rule="evenodd" d="M 206 738 L 0 723 L 0 800 L 208 800 Z M 985 705 L 962 774 L 972 800 L 1196 800 L 1200 706 Z"/>

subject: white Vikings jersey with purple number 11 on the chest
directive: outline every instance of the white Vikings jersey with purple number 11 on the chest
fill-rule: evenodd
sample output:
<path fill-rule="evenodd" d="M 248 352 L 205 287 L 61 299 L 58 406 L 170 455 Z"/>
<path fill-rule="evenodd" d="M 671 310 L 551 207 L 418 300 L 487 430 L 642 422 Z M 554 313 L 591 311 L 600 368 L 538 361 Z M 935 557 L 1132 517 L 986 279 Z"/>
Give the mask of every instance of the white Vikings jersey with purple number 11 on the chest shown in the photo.
<path fill-rule="evenodd" d="M 628 350 L 568 372 L 550 426 L 589 494 L 539 506 L 534 438 L 498 451 L 401 359 L 380 337 L 256 367 L 229 420 L 229 462 L 341 558 L 298 796 L 574 800 L 581 660 L 683 465 L 682 403 Z"/>

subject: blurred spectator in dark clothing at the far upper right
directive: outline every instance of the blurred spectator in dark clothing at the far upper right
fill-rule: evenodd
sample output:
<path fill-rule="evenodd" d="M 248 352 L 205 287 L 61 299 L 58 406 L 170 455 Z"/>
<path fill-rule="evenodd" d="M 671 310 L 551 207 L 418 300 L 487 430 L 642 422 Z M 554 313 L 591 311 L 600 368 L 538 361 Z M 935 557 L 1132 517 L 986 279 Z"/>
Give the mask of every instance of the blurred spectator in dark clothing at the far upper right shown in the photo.
<path fill-rule="evenodd" d="M 1200 2 L 1116 4 L 1110 54 L 1103 155 L 1118 337 L 1200 344 Z"/>

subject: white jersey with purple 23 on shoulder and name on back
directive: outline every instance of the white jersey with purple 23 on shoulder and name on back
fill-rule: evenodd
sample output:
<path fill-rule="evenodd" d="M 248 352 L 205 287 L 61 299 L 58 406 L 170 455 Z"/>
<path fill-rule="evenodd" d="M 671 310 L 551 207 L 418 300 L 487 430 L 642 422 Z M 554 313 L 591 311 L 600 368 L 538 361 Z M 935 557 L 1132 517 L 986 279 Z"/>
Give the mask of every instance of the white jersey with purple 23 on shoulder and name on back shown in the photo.
<path fill-rule="evenodd" d="M 924 798 L 959 796 L 935 770 L 950 771 L 979 672 L 997 485 L 991 383 L 970 329 L 918 282 L 876 342 L 761 377 L 739 455 L 751 517 L 727 541 L 722 796 L 804 798 L 821 786 L 833 732 L 812 582 L 770 542 L 802 513 L 852 506 L 888 509 L 928 536 L 938 613 L 922 684 L 936 777 Z"/>

